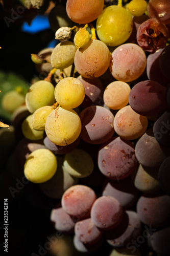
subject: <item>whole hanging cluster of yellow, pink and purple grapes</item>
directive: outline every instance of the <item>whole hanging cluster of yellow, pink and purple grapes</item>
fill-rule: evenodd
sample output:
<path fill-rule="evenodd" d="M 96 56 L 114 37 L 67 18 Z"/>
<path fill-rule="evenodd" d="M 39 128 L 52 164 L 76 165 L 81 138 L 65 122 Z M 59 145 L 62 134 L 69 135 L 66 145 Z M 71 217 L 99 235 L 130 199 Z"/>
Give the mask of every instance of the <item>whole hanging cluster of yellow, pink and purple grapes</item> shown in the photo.
<path fill-rule="evenodd" d="M 68 255 L 170 251 L 170 2 L 124 2 L 56 1 L 57 45 L 31 55 L 45 78 L 2 102 L 21 134 L 9 170 L 54 200 Z"/>

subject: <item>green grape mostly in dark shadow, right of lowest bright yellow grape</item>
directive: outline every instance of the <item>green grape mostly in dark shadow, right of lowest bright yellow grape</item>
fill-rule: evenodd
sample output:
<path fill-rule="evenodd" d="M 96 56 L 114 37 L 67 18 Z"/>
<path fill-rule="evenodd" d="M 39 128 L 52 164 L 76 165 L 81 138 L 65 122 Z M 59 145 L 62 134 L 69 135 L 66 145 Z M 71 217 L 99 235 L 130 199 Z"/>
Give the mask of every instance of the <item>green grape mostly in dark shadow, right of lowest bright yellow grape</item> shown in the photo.
<path fill-rule="evenodd" d="M 91 156 L 79 148 L 65 155 L 63 165 L 71 176 L 77 178 L 89 176 L 94 168 Z"/>

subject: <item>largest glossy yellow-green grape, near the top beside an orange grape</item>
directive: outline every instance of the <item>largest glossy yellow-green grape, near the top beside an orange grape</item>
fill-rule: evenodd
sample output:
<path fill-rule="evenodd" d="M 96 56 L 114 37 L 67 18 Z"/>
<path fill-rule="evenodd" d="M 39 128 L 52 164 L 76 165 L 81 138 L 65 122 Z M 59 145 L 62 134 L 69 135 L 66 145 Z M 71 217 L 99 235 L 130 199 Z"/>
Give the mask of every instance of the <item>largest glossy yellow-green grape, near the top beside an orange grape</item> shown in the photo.
<path fill-rule="evenodd" d="M 113 5 L 105 8 L 98 17 L 96 31 L 107 46 L 118 46 L 129 38 L 132 26 L 131 14 L 125 8 Z"/>

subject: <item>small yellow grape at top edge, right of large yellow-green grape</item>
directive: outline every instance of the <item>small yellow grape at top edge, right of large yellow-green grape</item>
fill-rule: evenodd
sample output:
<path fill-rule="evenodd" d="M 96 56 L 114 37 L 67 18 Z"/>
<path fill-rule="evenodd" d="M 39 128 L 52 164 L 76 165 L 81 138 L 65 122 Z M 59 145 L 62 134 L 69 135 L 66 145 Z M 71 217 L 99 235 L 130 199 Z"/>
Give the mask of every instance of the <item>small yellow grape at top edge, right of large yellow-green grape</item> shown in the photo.
<path fill-rule="evenodd" d="M 132 0 L 128 4 L 128 11 L 133 16 L 141 16 L 147 10 L 147 2 L 144 0 Z"/>

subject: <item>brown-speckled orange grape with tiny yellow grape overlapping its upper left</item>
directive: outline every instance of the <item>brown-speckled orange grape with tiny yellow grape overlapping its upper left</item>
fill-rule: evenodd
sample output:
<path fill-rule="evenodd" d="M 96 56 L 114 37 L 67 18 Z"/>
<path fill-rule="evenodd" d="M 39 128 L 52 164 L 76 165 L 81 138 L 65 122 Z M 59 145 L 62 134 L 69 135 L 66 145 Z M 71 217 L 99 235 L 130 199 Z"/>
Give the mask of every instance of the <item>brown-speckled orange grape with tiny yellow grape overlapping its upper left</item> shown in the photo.
<path fill-rule="evenodd" d="M 95 78 L 103 75 L 109 67 L 110 52 L 100 40 L 90 40 L 83 49 L 75 54 L 75 67 L 85 78 Z"/>

